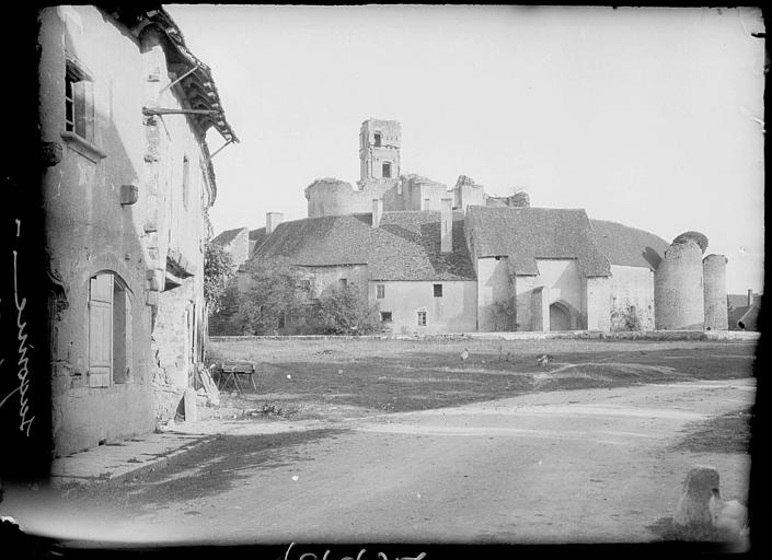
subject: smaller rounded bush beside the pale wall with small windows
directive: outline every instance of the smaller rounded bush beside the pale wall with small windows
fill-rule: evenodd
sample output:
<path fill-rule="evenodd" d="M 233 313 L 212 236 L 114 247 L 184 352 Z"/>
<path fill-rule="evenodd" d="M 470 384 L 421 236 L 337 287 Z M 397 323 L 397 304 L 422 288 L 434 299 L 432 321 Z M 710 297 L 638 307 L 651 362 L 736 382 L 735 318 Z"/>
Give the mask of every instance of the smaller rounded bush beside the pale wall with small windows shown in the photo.
<path fill-rule="evenodd" d="M 325 335 L 367 335 L 382 328 L 378 305 L 370 306 L 355 284 L 323 294 L 314 305 L 314 323 Z"/>

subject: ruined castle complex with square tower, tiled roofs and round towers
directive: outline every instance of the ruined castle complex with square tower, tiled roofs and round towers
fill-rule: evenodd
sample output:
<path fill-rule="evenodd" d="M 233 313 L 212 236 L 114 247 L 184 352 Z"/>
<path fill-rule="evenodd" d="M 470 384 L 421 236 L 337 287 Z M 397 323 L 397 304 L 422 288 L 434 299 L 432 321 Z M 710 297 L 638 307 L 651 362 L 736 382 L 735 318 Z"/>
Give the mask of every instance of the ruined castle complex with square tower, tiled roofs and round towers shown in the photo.
<path fill-rule="evenodd" d="M 450 189 L 397 176 L 401 135 L 366 120 L 357 187 L 312 183 L 308 218 L 261 232 L 251 258 L 289 258 L 315 295 L 358 284 L 396 332 L 727 328 L 726 259 L 703 260 L 704 235 L 669 245 L 583 209 L 533 208 L 523 191 L 489 196 L 465 175 Z"/>

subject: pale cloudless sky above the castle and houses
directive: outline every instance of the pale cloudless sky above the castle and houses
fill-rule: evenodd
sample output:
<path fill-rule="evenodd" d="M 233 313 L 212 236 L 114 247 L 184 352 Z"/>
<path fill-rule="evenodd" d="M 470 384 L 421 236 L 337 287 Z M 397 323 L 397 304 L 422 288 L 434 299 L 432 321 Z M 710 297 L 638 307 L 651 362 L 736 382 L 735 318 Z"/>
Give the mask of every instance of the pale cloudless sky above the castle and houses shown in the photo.
<path fill-rule="evenodd" d="M 307 217 L 359 179 L 359 127 L 402 124 L 402 173 L 726 255 L 763 289 L 764 31 L 752 8 L 166 7 L 240 143 L 215 156 L 215 233 Z M 214 130 L 214 152 L 224 143 Z"/>

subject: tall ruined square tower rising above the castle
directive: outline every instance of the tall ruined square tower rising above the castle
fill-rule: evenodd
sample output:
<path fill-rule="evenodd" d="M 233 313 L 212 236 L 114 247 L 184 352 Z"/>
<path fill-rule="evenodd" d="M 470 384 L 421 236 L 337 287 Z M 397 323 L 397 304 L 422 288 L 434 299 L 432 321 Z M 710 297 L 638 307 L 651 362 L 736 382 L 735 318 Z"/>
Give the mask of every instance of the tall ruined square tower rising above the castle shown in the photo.
<path fill-rule="evenodd" d="M 361 180 L 400 176 L 402 127 L 396 120 L 370 118 L 359 131 L 359 174 Z"/>

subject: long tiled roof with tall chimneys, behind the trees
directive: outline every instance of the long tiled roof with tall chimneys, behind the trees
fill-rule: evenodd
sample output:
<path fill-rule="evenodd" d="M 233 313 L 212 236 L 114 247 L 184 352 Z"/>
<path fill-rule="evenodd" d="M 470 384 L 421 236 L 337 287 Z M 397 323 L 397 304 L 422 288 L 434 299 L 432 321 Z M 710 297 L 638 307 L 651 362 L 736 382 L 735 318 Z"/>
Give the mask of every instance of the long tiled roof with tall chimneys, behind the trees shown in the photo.
<path fill-rule="evenodd" d="M 453 252 L 440 252 L 440 213 L 384 212 L 379 228 L 366 214 L 308 218 L 279 224 L 253 258 L 289 257 L 302 266 L 359 265 L 372 280 L 474 280 L 463 234 L 453 213 Z"/>

